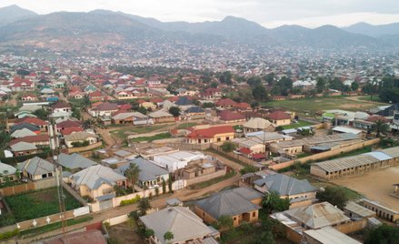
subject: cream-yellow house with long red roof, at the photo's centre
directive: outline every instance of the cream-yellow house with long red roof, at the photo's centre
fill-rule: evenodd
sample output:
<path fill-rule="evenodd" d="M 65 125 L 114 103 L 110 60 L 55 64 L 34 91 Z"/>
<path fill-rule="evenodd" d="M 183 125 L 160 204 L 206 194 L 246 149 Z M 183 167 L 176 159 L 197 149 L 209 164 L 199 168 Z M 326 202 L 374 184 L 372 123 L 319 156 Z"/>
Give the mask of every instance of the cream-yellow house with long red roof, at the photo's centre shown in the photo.
<path fill-rule="evenodd" d="M 186 137 L 189 144 L 210 144 L 233 139 L 234 128 L 232 126 L 194 128 Z"/>

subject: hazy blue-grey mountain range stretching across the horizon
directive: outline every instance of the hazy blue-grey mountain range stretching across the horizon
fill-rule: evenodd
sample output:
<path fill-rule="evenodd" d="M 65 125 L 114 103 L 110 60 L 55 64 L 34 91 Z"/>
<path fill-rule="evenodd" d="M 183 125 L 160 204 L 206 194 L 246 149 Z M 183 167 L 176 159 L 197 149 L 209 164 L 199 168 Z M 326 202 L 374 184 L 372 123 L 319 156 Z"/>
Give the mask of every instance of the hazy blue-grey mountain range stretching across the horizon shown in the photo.
<path fill-rule="evenodd" d="M 9 15 L 9 13 L 13 13 Z M 3 20 L 3 21 L 2 21 Z M 0 45 L 67 48 L 152 41 L 155 43 L 240 43 L 253 46 L 399 49 L 399 24 L 360 23 L 345 28 L 324 25 L 305 28 L 283 25 L 265 28 L 252 21 L 226 16 L 203 23 L 161 22 L 122 12 L 95 10 L 36 15 L 16 5 L 0 8 Z"/>

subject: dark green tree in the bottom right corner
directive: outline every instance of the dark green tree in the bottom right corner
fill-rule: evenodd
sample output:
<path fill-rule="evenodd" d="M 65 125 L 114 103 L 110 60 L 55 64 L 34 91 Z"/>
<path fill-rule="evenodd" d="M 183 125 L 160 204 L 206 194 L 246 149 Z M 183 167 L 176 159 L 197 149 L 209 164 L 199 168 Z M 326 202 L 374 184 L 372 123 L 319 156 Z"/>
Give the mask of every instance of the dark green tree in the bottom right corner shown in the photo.
<path fill-rule="evenodd" d="M 398 244 L 399 228 L 383 224 L 375 229 L 371 229 L 365 239 L 364 244 Z"/>

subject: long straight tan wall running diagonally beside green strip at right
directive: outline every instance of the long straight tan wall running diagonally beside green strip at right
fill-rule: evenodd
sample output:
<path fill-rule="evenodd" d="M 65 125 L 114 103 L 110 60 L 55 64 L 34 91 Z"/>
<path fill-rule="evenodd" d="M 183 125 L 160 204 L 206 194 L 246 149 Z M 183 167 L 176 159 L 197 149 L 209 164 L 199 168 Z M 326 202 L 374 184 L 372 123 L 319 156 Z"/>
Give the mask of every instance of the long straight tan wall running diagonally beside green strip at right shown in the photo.
<path fill-rule="evenodd" d="M 269 166 L 269 168 L 274 169 L 274 170 L 279 170 L 279 169 L 282 169 L 282 168 L 287 168 L 287 167 L 293 166 L 295 162 L 300 162 L 300 163 L 304 164 L 307 161 L 315 161 L 315 160 L 330 158 L 330 157 L 333 157 L 333 156 L 336 156 L 336 155 L 340 155 L 341 153 L 351 152 L 351 151 L 354 151 L 356 149 L 360 149 L 360 148 L 363 148 L 363 147 L 367 147 L 367 146 L 371 146 L 371 145 L 377 144 L 379 141 L 380 141 L 379 138 L 375 138 L 375 139 L 372 139 L 372 140 L 359 142 L 359 143 L 356 143 L 356 144 L 348 146 L 348 147 L 342 147 L 342 148 L 334 149 L 334 150 L 331 150 L 331 151 L 326 151 L 326 152 L 323 152 L 323 153 L 317 153 L 317 154 L 314 154 L 314 155 L 311 155 L 311 156 L 308 156 L 308 157 L 304 157 L 304 158 L 297 158 L 297 159 L 294 159 L 294 160 L 291 160 L 291 161 L 288 161 L 288 162 L 284 162 L 284 163 L 281 163 L 281 164 L 276 164 L 276 165 L 273 165 L 273 166 Z"/>

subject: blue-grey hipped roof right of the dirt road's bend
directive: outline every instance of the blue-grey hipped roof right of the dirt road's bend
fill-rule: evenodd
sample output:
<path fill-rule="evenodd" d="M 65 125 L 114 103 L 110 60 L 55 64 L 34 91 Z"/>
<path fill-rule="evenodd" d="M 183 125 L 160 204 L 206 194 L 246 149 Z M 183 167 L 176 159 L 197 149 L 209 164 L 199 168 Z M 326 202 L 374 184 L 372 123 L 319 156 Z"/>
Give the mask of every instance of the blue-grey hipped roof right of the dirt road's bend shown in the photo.
<path fill-rule="evenodd" d="M 275 191 L 280 196 L 295 195 L 305 192 L 316 191 L 309 182 L 292 178 L 283 174 L 270 175 L 265 178 L 260 178 L 254 181 L 257 186 L 266 186 L 269 191 Z"/>

